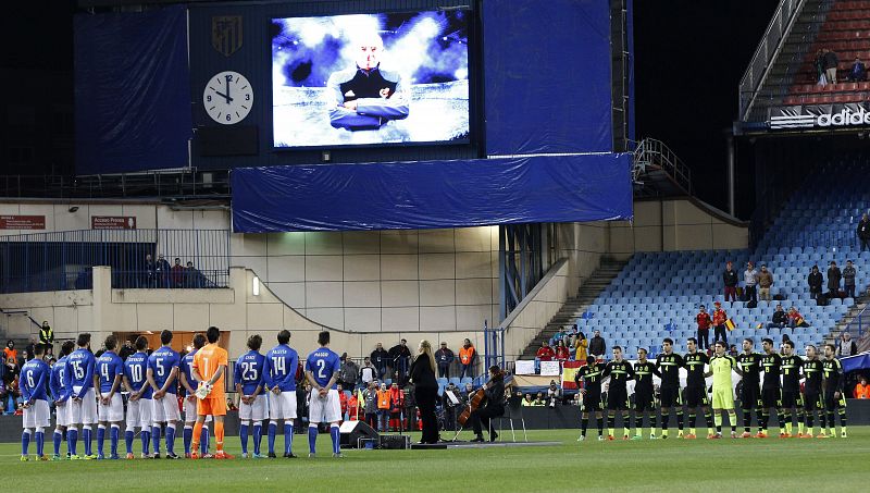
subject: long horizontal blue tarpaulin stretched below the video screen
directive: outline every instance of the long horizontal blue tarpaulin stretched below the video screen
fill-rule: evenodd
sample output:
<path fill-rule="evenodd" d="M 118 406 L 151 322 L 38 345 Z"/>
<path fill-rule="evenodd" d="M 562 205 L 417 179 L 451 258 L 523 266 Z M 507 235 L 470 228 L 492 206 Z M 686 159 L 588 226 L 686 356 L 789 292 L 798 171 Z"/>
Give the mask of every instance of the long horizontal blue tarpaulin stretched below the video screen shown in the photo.
<path fill-rule="evenodd" d="M 632 217 L 631 155 L 233 170 L 233 231 L 398 230 Z"/>

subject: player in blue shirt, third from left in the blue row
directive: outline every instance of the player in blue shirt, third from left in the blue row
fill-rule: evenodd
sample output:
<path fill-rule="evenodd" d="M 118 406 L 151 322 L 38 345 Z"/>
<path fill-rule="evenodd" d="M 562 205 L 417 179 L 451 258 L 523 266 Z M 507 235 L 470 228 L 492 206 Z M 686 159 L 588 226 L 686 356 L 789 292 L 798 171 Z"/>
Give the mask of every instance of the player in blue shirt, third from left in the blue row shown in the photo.
<path fill-rule="evenodd" d="M 66 440 L 72 452 L 71 460 L 82 457 L 76 454 L 78 443 L 78 427 L 82 427 L 82 439 L 85 442 L 86 459 L 96 459 L 91 451 L 91 428 L 97 422 L 97 393 L 94 391 L 94 367 L 97 358 L 90 352 L 90 334 L 78 334 L 76 340 L 78 348 L 66 357 L 70 366 L 70 384 L 72 385 L 71 403 L 69 404 L 70 426 L 66 429 Z"/>

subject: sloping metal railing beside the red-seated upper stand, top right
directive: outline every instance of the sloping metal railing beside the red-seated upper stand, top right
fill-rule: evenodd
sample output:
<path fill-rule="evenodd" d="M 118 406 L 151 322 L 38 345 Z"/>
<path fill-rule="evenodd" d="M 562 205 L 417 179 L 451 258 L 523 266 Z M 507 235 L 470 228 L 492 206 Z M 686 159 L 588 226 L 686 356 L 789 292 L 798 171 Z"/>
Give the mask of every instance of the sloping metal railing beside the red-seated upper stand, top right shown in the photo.
<path fill-rule="evenodd" d="M 739 85 L 739 115 L 746 120 L 765 78 L 770 72 L 773 59 L 780 52 L 782 41 L 794 24 L 794 20 L 804 8 L 805 0 L 781 0 L 773 14 L 753 60 L 743 74 Z"/>

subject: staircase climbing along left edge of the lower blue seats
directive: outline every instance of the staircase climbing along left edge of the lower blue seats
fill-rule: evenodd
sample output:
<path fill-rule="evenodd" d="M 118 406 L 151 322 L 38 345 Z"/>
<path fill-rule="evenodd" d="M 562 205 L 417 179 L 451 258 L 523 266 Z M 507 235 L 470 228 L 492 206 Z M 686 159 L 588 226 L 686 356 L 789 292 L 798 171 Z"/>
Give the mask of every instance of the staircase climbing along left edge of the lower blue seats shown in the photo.
<path fill-rule="evenodd" d="M 601 264 L 593 272 L 592 276 L 580 286 L 577 295 L 564 301 L 562 308 L 550 319 L 547 326 L 532 340 L 523 352 L 522 357 L 519 359 L 534 358 L 544 341 L 549 341 L 560 329 L 566 326 L 570 328 L 576 323 L 577 317 L 586 311 L 601 291 L 619 275 L 626 263 L 629 263 L 627 260 L 601 259 Z M 587 338 L 589 336 L 589 334 L 586 334 Z"/>

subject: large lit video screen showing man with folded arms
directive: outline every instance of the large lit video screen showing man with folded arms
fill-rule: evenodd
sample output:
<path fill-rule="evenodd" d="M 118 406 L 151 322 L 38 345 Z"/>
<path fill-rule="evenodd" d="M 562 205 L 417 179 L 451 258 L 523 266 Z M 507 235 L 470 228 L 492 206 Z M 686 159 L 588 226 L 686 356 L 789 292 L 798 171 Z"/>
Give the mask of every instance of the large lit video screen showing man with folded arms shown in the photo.
<path fill-rule="evenodd" d="M 470 15 L 273 19 L 274 146 L 467 141 Z"/>

